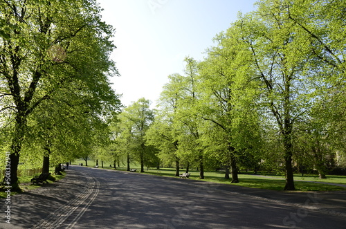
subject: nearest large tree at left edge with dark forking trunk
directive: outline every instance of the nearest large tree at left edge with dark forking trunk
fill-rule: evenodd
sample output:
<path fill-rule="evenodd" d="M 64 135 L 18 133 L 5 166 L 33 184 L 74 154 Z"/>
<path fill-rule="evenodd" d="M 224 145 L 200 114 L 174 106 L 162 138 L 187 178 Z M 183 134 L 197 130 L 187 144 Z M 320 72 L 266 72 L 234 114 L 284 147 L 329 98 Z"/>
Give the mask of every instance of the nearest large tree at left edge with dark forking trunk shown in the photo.
<path fill-rule="evenodd" d="M 92 100 L 113 97 L 98 98 L 98 92 L 115 71 L 109 60 L 114 46 L 111 27 L 100 20 L 93 0 L 1 1 L 0 12 L 0 96 L 6 101 L 0 111 L 12 122 L 8 184 L 16 190 L 29 116 L 71 82 L 82 83 Z"/>

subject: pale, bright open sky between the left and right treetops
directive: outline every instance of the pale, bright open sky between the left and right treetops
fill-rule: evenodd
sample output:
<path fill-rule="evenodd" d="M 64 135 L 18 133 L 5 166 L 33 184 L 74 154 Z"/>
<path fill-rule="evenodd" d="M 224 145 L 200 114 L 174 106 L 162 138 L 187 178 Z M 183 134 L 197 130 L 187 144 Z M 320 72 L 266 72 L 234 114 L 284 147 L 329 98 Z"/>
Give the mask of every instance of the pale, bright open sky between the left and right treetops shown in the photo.
<path fill-rule="evenodd" d="M 167 76 L 183 72 L 186 56 L 202 60 L 212 38 L 255 10 L 255 0 L 98 0 L 102 19 L 116 28 L 111 58 L 120 77 L 113 88 L 125 106 L 139 98 L 156 104 Z"/>

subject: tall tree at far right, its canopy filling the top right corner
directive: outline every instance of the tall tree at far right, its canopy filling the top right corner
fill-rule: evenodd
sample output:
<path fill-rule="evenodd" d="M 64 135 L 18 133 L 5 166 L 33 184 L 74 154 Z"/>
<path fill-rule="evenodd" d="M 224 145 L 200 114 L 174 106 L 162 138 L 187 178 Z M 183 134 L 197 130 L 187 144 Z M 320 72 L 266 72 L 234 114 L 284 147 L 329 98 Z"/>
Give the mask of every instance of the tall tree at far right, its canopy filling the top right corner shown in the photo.
<path fill-rule="evenodd" d="M 342 29 L 345 26 L 345 6 L 344 1 L 329 0 L 295 1 L 295 4 L 286 6 L 289 20 L 297 25 L 300 32 L 298 35 L 309 42 L 310 79 L 313 80 L 315 90 L 309 121 L 317 127 L 309 128 L 309 138 L 314 139 L 314 154 L 320 152 L 314 158 L 325 156 L 323 154 L 326 152 L 322 148 L 326 149 L 326 143 L 329 152 L 345 152 L 344 144 L 340 145 L 341 142 L 345 142 L 346 123 L 346 62 L 343 39 L 346 33 Z M 318 143 L 325 147 L 320 145 L 316 148 L 318 138 Z M 320 175 L 323 177 L 323 174 Z"/>

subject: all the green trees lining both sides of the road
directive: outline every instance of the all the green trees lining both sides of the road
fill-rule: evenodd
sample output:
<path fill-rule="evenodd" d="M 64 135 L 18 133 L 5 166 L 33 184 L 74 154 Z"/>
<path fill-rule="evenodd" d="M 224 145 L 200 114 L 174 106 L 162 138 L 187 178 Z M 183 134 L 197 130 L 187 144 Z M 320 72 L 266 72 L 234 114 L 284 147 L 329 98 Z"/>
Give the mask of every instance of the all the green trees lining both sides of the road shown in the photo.
<path fill-rule="evenodd" d="M 345 167 L 345 1 L 261 0 L 168 76 L 157 109 L 122 108 L 113 28 L 94 0 L 0 3 L 0 150 L 19 164 L 92 157 L 186 172 Z M 62 13 L 64 12 L 64 13 Z M 120 112 L 121 110 L 121 112 Z M 6 157 L 6 152 L 10 156 Z M 40 165 L 38 165 L 40 166 Z M 5 176 L 6 177 L 6 176 Z M 5 179 L 4 179 L 5 181 Z"/>

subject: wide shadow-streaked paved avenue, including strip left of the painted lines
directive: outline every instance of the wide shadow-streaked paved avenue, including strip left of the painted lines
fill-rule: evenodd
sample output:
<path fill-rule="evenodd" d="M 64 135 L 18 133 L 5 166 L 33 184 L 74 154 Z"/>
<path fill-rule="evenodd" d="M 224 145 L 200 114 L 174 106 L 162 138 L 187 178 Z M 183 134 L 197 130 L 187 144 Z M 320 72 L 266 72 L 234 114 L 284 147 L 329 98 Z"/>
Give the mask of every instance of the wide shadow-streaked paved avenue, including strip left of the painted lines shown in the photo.
<path fill-rule="evenodd" d="M 346 192 L 275 192 L 72 166 L 64 179 L 12 196 L 11 224 L 5 216 L 0 228 L 345 228 Z"/>

